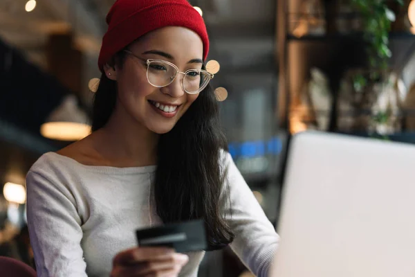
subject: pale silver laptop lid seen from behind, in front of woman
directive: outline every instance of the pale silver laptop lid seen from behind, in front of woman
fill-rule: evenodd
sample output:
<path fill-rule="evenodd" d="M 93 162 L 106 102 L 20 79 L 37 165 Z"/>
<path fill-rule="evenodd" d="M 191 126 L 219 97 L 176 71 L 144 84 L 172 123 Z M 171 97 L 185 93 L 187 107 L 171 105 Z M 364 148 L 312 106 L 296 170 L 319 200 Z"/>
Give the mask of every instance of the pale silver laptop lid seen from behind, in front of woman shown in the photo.
<path fill-rule="evenodd" d="M 414 277 L 415 146 L 293 136 L 270 277 Z"/>

